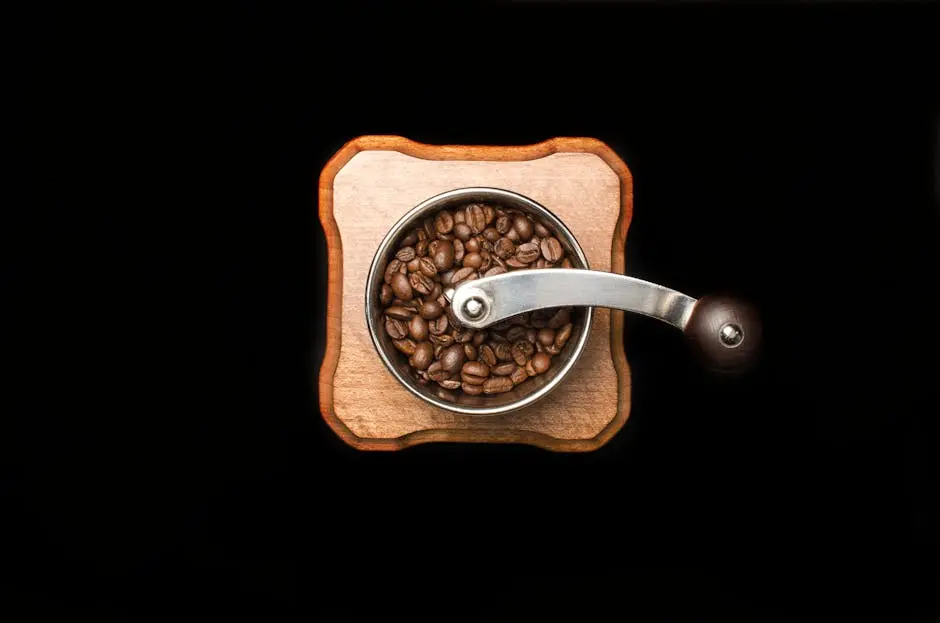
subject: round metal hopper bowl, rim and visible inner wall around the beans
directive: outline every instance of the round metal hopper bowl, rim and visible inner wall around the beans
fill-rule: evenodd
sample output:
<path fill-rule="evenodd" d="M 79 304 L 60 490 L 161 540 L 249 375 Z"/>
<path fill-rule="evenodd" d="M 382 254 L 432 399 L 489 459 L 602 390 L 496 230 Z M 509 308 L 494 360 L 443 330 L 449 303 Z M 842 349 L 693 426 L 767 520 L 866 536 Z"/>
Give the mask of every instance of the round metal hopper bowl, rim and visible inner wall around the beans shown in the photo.
<path fill-rule="evenodd" d="M 571 338 L 562 351 L 552 358 L 552 367 L 548 372 L 532 377 L 504 394 L 469 396 L 459 390 L 448 390 L 436 383 L 421 385 L 407 358 L 399 353 L 392 345 L 391 338 L 385 333 L 382 307 L 379 304 L 379 290 L 382 287 L 385 267 L 394 257 L 397 241 L 410 229 L 420 226 L 422 220 L 438 210 L 455 208 L 472 203 L 492 203 L 505 208 L 516 209 L 527 213 L 533 219 L 540 221 L 561 242 L 568 258 L 574 268 L 589 269 L 587 258 L 578 245 L 578 241 L 565 227 L 558 217 L 539 203 L 523 195 L 499 188 L 459 188 L 422 201 L 395 226 L 389 230 L 382 244 L 379 245 L 369 269 L 366 280 L 366 323 L 372 343 L 375 345 L 379 357 L 399 383 L 412 394 L 429 402 L 430 404 L 447 411 L 465 415 L 500 415 L 527 407 L 544 398 L 556 388 L 574 367 L 584 347 L 587 344 L 588 334 L 593 319 L 593 309 L 590 307 L 575 307 L 572 310 L 571 322 L 574 325 Z"/>

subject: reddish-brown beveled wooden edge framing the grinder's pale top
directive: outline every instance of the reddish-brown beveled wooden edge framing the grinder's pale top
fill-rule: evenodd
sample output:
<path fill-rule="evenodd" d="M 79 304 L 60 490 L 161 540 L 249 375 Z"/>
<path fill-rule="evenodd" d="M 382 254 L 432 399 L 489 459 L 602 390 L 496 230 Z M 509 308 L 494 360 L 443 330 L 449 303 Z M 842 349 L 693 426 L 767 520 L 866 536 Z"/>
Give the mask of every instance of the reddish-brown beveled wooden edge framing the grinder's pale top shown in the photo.
<path fill-rule="evenodd" d="M 600 157 L 620 178 L 620 217 L 611 242 L 611 270 L 624 272 L 624 244 L 633 218 L 633 176 L 627 165 L 605 143 L 586 137 L 557 137 L 534 145 L 428 145 L 402 136 L 369 135 L 355 138 L 330 158 L 319 181 L 320 223 L 326 235 L 328 275 L 326 308 L 326 350 L 320 367 L 320 413 L 330 428 L 347 444 L 359 450 L 402 450 L 421 443 L 524 443 L 554 452 L 597 450 L 623 428 L 630 416 L 630 366 L 623 349 L 623 312 L 611 310 L 610 346 L 617 371 L 617 414 L 591 439 L 558 439 L 544 433 L 524 430 L 431 429 L 415 431 L 393 439 L 363 438 L 353 433 L 333 409 L 333 375 L 339 363 L 343 311 L 343 244 L 333 217 L 333 180 L 360 151 L 397 151 L 424 160 L 525 161 L 560 152 L 591 153 Z"/>

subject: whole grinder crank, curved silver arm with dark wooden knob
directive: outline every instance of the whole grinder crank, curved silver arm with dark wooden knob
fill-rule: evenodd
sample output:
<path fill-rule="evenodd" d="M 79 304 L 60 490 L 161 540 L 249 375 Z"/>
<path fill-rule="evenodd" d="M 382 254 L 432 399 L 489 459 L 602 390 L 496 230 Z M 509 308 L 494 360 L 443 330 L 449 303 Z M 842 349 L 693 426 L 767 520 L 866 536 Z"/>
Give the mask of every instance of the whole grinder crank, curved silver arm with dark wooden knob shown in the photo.
<path fill-rule="evenodd" d="M 681 329 L 705 365 L 721 372 L 749 368 L 761 340 L 758 315 L 743 301 L 694 299 L 649 281 L 596 270 L 519 270 L 464 282 L 444 295 L 457 320 L 471 329 L 552 307 L 610 307 L 643 314 Z"/>

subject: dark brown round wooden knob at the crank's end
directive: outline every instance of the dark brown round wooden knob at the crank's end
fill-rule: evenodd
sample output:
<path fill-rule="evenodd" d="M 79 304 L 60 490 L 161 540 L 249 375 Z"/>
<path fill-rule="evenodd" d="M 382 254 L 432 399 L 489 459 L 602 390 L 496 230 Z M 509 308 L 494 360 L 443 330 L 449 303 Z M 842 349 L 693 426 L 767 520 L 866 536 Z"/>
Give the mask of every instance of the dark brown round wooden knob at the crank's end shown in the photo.
<path fill-rule="evenodd" d="M 731 297 L 699 299 L 685 334 L 704 365 L 716 372 L 745 372 L 754 365 L 760 351 L 761 324 L 757 310 Z"/>

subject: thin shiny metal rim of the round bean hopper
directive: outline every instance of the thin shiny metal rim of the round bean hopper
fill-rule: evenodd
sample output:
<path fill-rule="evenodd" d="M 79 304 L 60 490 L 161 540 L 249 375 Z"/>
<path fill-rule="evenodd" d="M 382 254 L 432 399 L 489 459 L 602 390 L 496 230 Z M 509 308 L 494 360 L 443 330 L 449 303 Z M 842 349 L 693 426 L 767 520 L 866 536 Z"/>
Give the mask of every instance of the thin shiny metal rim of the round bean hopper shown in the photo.
<path fill-rule="evenodd" d="M 575 366 L 578 360 L 581 358 L 584 348 L 587 345 L 588 336 L 591 332 L 591 325 L 594 320 L 594 309 L 591 307 L 584 308 L 584 322 L 581 328 L 580 335 L 578 336 L 577 343 L 574 345 L 574 349 L 571 353 L 571 356 L 568 357 L 567 361 L 564 362 L 561 370 L 555 375 L 555 377 L 545 384 L 544 387 L 541 387 L 530 394 L 527 394 L 523 398 L 515 402 L 510 402 L 505 405 L 498 406 L 468 406 L 468 405 L 458 405 L 446 400 L 442 400 L 435 396 L 429 396 L 422 393 L 418 390 L 417 387 L 411 383 L 410 379 L 404 378 L 403 375 L 398 371 L 398 368 L 389 358 L 388 353 L 385 352 L 385 349 L 382 346 L 382 343 L 379 341 L 377 331 L 378 327 L 375 326 L 375 323 L 372 321 L 372 313 L 375 309 L 375 304 L 373 301 L 372 287 L 376 279 L 376 273 L 378 272 L 378 267 L 382 263 L 383 258 L 385 258 L 391 246 L 402 234 L 402 232 L 410 226 L 413 226 L 414 221 L 423 218 L 424 215 L 428 212 L 435 211 L 439 209 L 442 204 L 447 204 L 451 202 L 458 202 L 461 200 L 471 201 L 494 201 L 499 203 L 509 202 L 514 204 L 522 204 L 534 214 L 539 215 L 544 220 L 548 221 L 558 233 L 562 234 L 566 238 L 566 242 L 571 246 L 571 250 L 577 255 L 578 260 L 583 264 L 585 269 L 590 269 L 590 264 L 588 263 L 587 257 L 584 255 L 584 251 L 581 249 L 581 246 L 578 244 L 577 239 L 574 237 L 574 234 L 568 229 L 567 226 L 555 216 L 548 208 L 542 204 L 509 190 L 504 190 L 502 188 L 491 188 L 486 186 L 474 186 L 467 188 L 457 188 L 454 190 L 449 190 L 438 195 L 434 195 L 428 199 L 425 199 L 414 208 L 409 210 L 402 216 L 395 225 L 385 234 L 385 237 L 382 239 L 381 244 L 379 245 L 378 250 L 375 252 L 375 256 L 372 258 L 372 264 L 369 267 L 369 274 L 366 278 L 366 287 L 365 287 L 365 315 L 366 315 L 366 326 L 369 327 L 369 337 L 372 339 L 372 345 L 375 347 L 376 352 L 378 352 L 379 357 L 382 359 L 382 363 L 385 364 L 385 368 L 392 374 L 393 377 L 404 386 L 409 392 L 418 398 L 433 404 L 436 407 L 450 411 L 452 413 L 461 413 L 464 415 L 502 415 L 505 413 L 511 413 L 513 411 L 518 411 L 523 409 L 535 402 L 538 402 L 546 395 L 548 395 L 553 389 L 555 389 L 564 379 L 568 376 L 568 373 Z"/>

